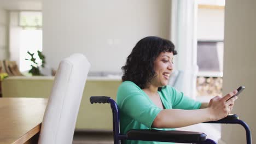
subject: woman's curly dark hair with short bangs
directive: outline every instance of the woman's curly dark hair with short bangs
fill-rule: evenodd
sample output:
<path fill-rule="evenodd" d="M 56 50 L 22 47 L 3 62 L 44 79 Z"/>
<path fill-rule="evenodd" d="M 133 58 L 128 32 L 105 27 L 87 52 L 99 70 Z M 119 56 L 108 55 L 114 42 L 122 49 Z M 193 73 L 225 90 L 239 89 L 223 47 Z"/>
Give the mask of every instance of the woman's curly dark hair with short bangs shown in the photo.
<path fill-rule="evenodd" d="M 126 64 L 121 68 L 124 75 L 122 80 L 132 81 L 141 89 L 145 88 L 154 75 L 154 61 L 161 52 L 172 52 L 177 55 L 174 50 L 174 44 L 167 39 L 159 37 L 146 37 L 138 41 L 133 47 L 131 54 L 126 59 Z"/>

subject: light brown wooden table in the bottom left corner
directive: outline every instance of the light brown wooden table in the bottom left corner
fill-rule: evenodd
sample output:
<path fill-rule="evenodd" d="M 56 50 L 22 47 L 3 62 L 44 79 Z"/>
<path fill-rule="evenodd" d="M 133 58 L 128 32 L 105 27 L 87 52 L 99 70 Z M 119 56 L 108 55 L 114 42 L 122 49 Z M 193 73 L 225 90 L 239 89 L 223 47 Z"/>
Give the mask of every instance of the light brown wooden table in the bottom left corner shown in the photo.
<path fill-rule="evenodd" d="M 44 98 L 0 98 L 0 144 L 38 139 L 47 102 Z"/>

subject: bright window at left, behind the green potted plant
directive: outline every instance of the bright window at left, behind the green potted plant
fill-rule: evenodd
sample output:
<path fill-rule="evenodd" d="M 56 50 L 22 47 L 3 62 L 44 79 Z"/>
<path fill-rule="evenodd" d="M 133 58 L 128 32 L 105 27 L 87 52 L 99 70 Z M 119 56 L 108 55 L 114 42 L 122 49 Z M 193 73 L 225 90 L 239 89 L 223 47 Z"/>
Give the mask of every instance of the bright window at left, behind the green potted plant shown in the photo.
<path fill-rule="evenodd" d="M 10 59 L 18 62 L 21 72 L 31 69 L 27 51 L 42 51 L 42 12 L 11 11 L 10 12 Z"/>

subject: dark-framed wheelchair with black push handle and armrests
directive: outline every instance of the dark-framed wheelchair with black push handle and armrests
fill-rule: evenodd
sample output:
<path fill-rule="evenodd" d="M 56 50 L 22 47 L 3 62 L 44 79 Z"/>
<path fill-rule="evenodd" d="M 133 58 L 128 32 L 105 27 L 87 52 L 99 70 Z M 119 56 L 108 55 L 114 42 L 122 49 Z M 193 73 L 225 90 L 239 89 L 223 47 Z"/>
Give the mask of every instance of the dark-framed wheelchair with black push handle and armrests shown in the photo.
<path fill-rule="evenodd" d="M 216 144 L 216 141 L 206 138 L 206 134 L 194 131 L 179 130 L 154 130 L 154 129 L 131 129 L 126 134 L 120 134 L 119 129 L 119 113 L 118 105 L 113 99 L 106 96 L 90 97 L 91 104 L 109 103 L 113 113 L 113 136 L 114 144 L 120 144 L 121 140 L 141 140 L 141 141 L 161 141 L 161 142 L 178 142 L 178 143 L 200 143 L 200 144 Z M 229 115 L 218 121 L 205 123 L 225 123 L 240 124 L 246 130 L 247 144 L 252 143 L 251 131 L 248 125 L 238 119 L 237 115 Z"/>

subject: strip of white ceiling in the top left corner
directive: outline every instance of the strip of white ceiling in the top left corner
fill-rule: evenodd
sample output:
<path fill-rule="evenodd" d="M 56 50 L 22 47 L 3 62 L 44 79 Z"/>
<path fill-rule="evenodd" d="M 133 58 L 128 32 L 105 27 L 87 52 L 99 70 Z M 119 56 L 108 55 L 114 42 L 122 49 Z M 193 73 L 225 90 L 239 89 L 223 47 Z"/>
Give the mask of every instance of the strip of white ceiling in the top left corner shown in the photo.
<path fill-rule="evenodd" d="M 0 0 L 5 10 L 42 10 L 42 0 Z"/>

